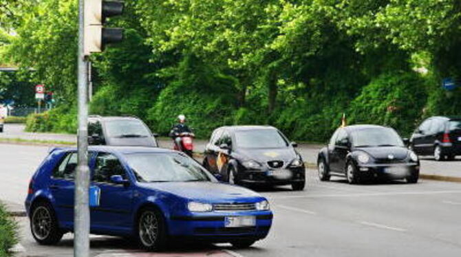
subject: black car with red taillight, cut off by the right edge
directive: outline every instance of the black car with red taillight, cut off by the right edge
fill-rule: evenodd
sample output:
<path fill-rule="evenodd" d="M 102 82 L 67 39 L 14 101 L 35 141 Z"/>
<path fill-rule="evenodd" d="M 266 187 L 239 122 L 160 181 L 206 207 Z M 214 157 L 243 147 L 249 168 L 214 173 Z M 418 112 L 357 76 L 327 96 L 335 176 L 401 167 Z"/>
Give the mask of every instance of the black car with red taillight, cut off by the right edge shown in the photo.
<path fill-rule="evenodd" d="M 455 159 L 461 155 L 461 117 L 428 118 L 411 135 L 409 148 L 436 161 Z"/>

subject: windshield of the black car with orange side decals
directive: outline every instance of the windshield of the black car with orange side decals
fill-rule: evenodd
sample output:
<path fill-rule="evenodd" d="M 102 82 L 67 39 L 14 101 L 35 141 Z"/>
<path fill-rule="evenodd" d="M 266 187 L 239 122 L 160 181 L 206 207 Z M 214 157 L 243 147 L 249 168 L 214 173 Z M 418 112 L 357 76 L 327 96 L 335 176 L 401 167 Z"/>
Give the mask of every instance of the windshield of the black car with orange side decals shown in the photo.
<path fill-rule="evenodd" d="M 288 142 L 275 129 L 235 132 L 235 143 L 241 148 L 283 148 Z"/>

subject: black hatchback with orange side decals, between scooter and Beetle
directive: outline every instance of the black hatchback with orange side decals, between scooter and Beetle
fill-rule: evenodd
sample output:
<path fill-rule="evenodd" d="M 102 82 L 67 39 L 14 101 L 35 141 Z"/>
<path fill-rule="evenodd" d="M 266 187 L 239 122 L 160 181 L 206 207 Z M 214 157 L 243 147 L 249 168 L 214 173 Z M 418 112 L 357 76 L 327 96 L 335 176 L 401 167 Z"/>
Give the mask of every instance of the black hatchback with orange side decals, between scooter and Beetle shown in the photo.
<path fill-rule="evenodd" d="M 223 126 L 213 131 L 203 165 L 231 184 L 303 190 L 305 167 L 296 146 L 272 126 Z"/>

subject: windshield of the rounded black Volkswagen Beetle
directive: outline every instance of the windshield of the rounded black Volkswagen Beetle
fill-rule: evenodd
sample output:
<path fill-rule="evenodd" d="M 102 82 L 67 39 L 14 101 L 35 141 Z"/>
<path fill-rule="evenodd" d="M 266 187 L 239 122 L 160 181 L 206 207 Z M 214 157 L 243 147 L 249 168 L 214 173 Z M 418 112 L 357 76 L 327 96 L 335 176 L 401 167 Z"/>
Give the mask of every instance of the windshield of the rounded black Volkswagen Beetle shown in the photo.
<path fill-rule="evenodd" d="M 400 136 L 389 128 L 370 128 L 352 131 L 352 144 L 355 147 L 404 146 Z"/>

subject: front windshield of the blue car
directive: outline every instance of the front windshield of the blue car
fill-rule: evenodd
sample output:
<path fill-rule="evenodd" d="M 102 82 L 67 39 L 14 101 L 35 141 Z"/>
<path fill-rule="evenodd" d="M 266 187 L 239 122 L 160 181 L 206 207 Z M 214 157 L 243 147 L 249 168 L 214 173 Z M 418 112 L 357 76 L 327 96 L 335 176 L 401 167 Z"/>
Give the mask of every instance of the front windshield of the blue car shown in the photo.
<path fill-rule="evenodd" d="M 178 153 L 138 153 L 126 158 L 140 182 L 214 181 L 200 164 Z"/>

